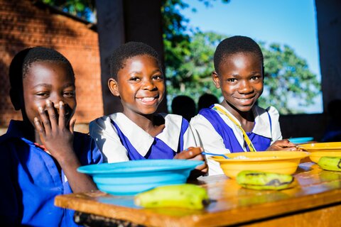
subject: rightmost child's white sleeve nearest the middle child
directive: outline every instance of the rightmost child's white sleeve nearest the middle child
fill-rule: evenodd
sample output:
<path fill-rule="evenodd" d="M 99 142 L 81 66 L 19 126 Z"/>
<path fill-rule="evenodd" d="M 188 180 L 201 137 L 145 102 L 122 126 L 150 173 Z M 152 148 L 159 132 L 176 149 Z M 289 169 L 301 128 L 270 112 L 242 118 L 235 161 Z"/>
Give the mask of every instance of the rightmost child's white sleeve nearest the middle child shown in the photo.
<path fill-rule="evenodd" d="M 199 145 L 205 150 L 205 152 L 217 154 L 230 153 L 229 149 L 225 148 L 222 136 L 215 131 L 215 128 L 212 126 L 210 121 L 208 121 L 204 116 L 198 114 L 193 117 L 190 121 L 190 125 L 195 129 L 198 135 Z M 218 162 L 207 159 L 207 165 L 209 167 L 208 175 L 223 174 Z"/>

